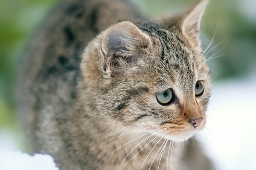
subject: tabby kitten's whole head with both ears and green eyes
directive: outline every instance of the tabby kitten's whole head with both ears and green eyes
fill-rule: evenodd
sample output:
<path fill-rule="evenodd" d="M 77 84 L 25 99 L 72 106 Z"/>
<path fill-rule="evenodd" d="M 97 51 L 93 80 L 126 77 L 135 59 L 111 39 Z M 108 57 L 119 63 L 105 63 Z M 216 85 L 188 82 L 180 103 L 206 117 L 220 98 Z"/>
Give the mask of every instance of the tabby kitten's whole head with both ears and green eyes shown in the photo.
<path fill-rule="evenodd" d="M 209 68 L 198 40 L 206 0 L 173 17 L 122 21 L 87 46 L 81 63 L 102 121 L 185 140 L 206 123 Z"/>

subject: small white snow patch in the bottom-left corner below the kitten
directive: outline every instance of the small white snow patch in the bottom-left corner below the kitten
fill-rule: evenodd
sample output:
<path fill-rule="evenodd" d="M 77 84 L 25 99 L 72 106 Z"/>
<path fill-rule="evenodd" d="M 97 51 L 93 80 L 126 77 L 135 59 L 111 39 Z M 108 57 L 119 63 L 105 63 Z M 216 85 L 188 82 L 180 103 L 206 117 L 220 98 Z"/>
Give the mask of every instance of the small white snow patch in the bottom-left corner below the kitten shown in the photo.
<path fill-rule="evenodd" d="M 0 170 L 58 170 L 58 168 L 49 155 L 30 156 L 20 151 L 2 151 Z"/>

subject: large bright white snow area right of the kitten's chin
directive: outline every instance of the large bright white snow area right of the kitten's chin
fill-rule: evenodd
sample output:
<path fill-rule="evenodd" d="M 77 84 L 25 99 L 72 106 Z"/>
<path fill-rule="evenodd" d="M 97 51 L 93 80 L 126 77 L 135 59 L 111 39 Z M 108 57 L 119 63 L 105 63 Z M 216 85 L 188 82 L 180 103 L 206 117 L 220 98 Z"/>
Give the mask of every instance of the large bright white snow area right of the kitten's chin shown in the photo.
<path fill-rule="evenodd" d="M 198 139 L 216 170 L 256 170 L 256 79 L 213 85 L 206 129 Z"/>

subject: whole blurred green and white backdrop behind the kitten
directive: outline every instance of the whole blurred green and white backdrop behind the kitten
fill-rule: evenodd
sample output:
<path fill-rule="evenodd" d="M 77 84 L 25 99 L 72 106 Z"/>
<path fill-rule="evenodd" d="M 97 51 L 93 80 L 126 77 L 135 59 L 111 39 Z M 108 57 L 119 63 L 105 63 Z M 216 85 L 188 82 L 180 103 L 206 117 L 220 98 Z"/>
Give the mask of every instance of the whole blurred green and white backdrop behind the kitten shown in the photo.
<path fill-rule="evenodd" d="M 57 2 L 0 1 L 0 151 L 29 152 L 15 114 L 16 72 L 30 37 Z M 155 17 L 182 11 L 197 0 L 133 2 Z M 256 0 L 211 0 L 200 38 L 204 50 L 212 41 L 205 54 L 210 58 L 213 93 L 208 126 L 198 138 L 216 169 L 256 169 Z"/>

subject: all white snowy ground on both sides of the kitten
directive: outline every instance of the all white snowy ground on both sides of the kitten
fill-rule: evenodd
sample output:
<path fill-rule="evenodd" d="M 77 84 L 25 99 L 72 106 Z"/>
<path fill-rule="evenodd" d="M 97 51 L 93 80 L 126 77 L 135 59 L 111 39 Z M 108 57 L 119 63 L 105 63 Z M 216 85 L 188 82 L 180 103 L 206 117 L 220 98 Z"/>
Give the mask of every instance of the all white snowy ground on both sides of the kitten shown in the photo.
<path fill-rule="evenodd" d="M 207 128 L 197 137 L 216 170 L 256 170 L 255 89 L 253 77 L 213 85 Z M 0 170 L 58 170 L 50 156 L 10 152 L 15 141 L 0 130 Z"/>

